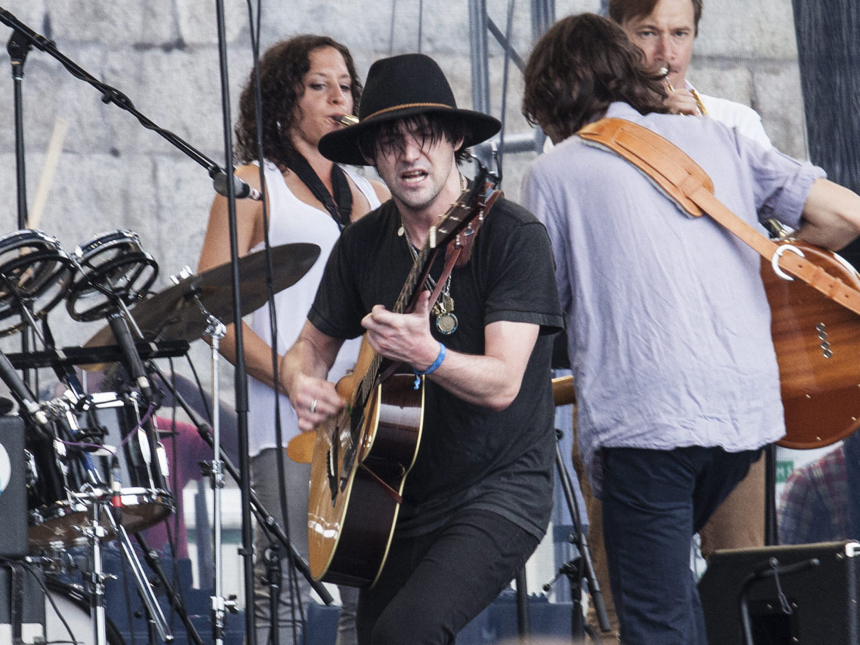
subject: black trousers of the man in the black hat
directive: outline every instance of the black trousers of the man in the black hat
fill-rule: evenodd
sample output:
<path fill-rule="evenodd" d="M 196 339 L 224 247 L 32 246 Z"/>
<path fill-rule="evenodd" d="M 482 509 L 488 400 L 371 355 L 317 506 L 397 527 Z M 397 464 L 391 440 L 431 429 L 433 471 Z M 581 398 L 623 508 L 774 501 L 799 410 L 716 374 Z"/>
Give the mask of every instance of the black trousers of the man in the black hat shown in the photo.
<path fill-rule="evenodd" d="M 358 601 L 360 645 L 451 643 L 522 568 L 538 539 L 491 511 L 456 513 L 441 529 L 395 539 Z"/>

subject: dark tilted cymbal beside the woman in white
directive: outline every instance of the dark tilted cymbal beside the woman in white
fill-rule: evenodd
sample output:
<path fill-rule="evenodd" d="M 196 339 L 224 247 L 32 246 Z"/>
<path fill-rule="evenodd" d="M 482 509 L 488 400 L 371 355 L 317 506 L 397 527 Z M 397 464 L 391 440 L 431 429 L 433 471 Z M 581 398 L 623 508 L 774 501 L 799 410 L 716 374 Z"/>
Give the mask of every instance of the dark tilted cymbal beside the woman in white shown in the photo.
<path fill-rule="evenodd" d="M 294 285 L 307 273 L 320 255 L 316 244 L 283 244 L 272 249 L 274 292 Z M 243 314 L 266 303 L 266 252 L 257 251 L 239 258 L 239 294 Z M 183 278 L 135 305 L 130 313 L 144 338 L 192 341 L 203 336 L 207 322 L 195 296 L 206 310 L 225 324 L 233 316 L 233 271 L 230 263 Z M 112 345 L 116 341 L 110 326 L 99 330 L 84 347 Z"/>

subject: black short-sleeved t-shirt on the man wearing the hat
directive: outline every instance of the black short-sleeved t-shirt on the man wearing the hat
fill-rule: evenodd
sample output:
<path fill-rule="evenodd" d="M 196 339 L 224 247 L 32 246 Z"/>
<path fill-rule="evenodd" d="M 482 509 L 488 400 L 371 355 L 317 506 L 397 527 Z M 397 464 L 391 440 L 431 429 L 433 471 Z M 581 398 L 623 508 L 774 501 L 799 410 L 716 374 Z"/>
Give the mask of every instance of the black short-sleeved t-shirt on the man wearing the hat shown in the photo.
<path fill-rule="evenodd" d="M 374 305 L 393 309 L 412 267 L 400 216 L 388 201 L 346 228 L 329 257 L 309 320 L 334 338 L 364 333 Z M 431 270 L 437 278 L 444 251 Z M 397 530 L 417 535 L 469 505 L 543 535 L 552 508 L 555 455 L 550 358 L 562 314 L 546 229 L 528 211 L 499 199 L 477 234 L 469 263 L 451 276 L 457 330 L 433 335 L 449 349 L 484 353 L 495 321 L 541 326 L 522 387 L 505 410 L 467 403 L 425 380 L 421 445 L 407 476 Z"/>

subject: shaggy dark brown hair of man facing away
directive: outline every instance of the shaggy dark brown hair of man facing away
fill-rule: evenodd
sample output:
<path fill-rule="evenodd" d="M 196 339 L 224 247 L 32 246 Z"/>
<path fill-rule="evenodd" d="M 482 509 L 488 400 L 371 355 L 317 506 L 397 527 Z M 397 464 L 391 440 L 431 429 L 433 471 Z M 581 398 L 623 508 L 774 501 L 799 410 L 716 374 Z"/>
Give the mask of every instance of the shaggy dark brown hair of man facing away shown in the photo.
<path fill-rule="evenodd" d="M 565 139 L 613 101 L 668 113 L 666 88 L 624 31 L 593 13 L 568 16 L 537 42 L 525 71 L 523 115 Z"/>

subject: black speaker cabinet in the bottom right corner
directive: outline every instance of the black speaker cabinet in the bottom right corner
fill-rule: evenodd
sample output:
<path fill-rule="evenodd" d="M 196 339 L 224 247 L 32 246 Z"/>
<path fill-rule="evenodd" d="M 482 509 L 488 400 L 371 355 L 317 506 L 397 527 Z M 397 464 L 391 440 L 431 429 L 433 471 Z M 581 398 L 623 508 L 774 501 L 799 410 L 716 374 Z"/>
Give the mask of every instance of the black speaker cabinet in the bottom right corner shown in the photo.
<path fill-rule="evenodd" d="M 743 630 L 739 596 L 753 573 L 799 565 L 781 574 L 779 587 L 791 608 L 781 607 L 773 576 L 757 580 L 748 590 L 750 624 L 755 645 L 860 645 L 858 635 L 857 542 L 824 542 L 797 546 L 717 551 L 699 582 L 708 642 L 741 645 Z M 803 566 L 817 560 L 816 566 Z"/>

